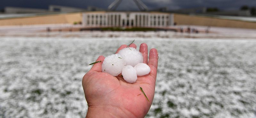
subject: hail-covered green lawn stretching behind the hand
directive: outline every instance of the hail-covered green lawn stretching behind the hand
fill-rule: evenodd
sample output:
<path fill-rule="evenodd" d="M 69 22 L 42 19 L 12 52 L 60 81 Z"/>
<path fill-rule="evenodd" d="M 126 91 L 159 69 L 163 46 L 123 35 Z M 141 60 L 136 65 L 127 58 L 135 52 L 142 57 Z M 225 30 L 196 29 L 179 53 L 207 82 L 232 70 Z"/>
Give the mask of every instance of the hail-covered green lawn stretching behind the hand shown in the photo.
<path fill-rule="evenodd" d="M 0 117 L 84 117 L 88 64 L 134 39 L 159 52 L 146 117 L 256 117 L 256 40 L 100 35 L 0 37 Z"/>

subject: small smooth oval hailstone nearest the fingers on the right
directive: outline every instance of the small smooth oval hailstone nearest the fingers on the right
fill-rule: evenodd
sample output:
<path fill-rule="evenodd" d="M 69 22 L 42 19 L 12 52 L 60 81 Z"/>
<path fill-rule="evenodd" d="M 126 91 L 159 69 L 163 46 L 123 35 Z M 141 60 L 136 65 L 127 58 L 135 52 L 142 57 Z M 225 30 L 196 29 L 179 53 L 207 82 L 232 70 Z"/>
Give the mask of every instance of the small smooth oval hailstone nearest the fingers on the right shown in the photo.
<path fill-rule="evenodd" d="M 138 63 L 134 66 L 138 76 L 148 75 L 150 68 L 146 63 Z"/>

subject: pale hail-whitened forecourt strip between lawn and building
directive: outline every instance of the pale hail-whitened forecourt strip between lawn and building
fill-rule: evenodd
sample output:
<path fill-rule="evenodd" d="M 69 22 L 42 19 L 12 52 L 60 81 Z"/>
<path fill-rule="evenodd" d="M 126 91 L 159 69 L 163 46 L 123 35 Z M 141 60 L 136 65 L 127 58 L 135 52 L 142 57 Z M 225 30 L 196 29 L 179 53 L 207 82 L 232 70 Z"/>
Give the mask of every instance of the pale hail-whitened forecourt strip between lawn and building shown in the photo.
<path fill-rule="evenodd" d="M 199 30 L 199 33 L 179 33 L 172 31 L 159 32 L 111 32 L 111 31 L 82 31 L 82 32 L 46 32 L 47 28 L 58 30 L 61 28 L 79 28 L 82 25 L 52 24 L 52 25 L 27 25 L 27 26 L 0 26 L 0 36 L 27 36 L 27 37 L 161 37 L 161 38 L 212 38 L 230 39 L 244 38 L 256 39 L 256 29 L 207 27 L 207 26 L 170 26 L 171 28 L 190 27 Z M 209 29 L 210 33 L 204 33 Z"/>

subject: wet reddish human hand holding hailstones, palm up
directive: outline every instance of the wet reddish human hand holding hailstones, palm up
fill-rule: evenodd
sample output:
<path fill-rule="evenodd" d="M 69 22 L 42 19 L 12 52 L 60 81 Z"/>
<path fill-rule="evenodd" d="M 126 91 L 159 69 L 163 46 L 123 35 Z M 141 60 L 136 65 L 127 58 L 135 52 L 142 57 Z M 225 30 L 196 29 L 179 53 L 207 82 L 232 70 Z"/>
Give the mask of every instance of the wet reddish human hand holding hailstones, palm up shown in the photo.
<path fill-rule="evenodd" d="M 117 52 L 127 45 L 122 45 Z M 135 44 L 130 47 L 136 48 Z M 116 52 L 116 53 L 117 53 Z M 92 69 L 83 77 L 83 88 L 88 112 L 86 117 L 145 117 L 153 102 L 156 83 L 158 55 L 156 49 L 151 49 L 148 61 L 148 46 L 140 45 L 144 62 L 151 71 L 148 75 L 138 76 L 135 83 L 127 83 L 120 75 L 113 77 L 101 72 L 100 63 L 95 63 Z M 96 61 L 103 61 L 100 56 Z M 147 95 L 144 96 L 140 87 Z M 149 101 L 148 101 L 149 100 Z"/>

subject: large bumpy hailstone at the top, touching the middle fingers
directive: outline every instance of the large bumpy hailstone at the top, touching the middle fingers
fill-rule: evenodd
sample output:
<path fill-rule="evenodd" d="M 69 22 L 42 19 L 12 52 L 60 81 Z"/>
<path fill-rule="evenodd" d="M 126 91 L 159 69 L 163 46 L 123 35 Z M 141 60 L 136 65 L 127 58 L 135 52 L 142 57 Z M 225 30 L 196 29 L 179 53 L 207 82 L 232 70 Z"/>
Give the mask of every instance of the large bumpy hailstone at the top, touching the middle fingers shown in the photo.
<path fill-rule="evenodd" d="M 131 65 L 132 67 L 134 67 L 138 63 L 143 62 L 143 56 L 141 52 L 132 47 L 123 48 L 117 54 L 122 55 L 122 58 L 126 62 L 126 65 Z"/>

